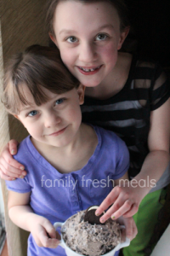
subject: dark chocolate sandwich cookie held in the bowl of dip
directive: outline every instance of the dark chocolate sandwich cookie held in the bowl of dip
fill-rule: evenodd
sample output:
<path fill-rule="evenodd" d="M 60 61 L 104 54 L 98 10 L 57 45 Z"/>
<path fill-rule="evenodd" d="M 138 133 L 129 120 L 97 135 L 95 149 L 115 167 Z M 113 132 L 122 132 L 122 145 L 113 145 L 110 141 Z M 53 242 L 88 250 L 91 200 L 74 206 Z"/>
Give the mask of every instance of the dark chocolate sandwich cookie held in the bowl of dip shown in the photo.
<path fill-rule="evenodd" d="M 96 216 L 95 211 L 97 208 L 99 208 L 99 206 L 88 207 L 84 215 L 84 221 L 87 221 L 89 224 L 93 224 L 93 225 L 94 224 L 105 225 L 99 221 L 99 218 L 101 218 L 101 216 L 103 216 L 105 212 L 101 213 L 99 216 Z"/>

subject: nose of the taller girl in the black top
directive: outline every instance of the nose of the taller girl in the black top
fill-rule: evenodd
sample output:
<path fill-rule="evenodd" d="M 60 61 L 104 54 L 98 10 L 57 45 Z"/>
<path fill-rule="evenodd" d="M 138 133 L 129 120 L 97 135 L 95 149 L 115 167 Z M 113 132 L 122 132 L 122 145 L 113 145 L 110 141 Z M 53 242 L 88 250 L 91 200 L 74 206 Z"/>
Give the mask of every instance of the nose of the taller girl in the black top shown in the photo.
<path fill-rule="evenodd" d="M 84 64 L 93 64 L 96 61 L 97 53 L 95 45 L 84 43 L 80 47 L 79 60 Z"/>

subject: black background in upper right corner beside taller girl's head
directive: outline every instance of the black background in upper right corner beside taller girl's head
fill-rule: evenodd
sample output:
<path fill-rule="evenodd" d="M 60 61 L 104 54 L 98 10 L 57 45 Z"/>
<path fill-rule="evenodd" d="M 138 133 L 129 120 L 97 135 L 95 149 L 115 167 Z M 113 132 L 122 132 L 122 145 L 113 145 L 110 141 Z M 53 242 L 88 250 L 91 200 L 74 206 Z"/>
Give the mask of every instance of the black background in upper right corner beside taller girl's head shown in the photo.
<path fill-rule="evenodd" d="M 125 0 L 133 27 L 128 40 L 141 56 L 170 69 L 170 0 Z M 136 41 L 135 41 L 136 39 Z"/>

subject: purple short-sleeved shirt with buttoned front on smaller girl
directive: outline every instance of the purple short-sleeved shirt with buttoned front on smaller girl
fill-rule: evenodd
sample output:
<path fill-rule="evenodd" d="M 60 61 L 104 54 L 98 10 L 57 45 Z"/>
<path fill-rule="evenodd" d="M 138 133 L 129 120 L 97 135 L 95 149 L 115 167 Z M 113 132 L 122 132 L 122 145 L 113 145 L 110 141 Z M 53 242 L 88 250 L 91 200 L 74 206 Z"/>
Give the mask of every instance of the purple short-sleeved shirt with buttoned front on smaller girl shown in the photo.
<path fill-rule="evenodd" d="M 111 192 L 113 182 L 127 172 L 129 154 L 125 143 L 112 131 L 94 126 L 98 145 L 88 164 L 81 170 L 60 173 L 45 160 L 26 137 L 20 143 L 14 159 L 26 167 L 23 179 L 6 181 L 8 190 L 31 192 L 31 208 L 54 224 L 65 222 L 71 215 L 99 205 Z M 28 239 L 28 256 L 65 256 L 62 247 L 38 247 L 33 237 Z"/>

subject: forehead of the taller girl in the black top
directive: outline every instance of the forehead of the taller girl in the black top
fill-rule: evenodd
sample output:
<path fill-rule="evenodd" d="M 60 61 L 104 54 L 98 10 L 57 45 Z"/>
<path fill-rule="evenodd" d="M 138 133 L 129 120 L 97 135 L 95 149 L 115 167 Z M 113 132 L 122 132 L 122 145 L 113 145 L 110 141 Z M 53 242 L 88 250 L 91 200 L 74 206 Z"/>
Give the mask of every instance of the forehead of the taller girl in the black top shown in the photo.
<path fill-rule="evenodd" d="M 55 33 L 60 33 L 62 29 L 78 29 L 82 26 L 97 29 L 107 23 L 120 27 L 119 15 L 109 2 L 60 1 L 54 13 Z"/>

